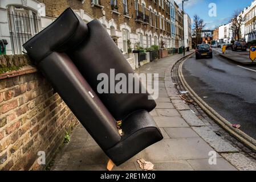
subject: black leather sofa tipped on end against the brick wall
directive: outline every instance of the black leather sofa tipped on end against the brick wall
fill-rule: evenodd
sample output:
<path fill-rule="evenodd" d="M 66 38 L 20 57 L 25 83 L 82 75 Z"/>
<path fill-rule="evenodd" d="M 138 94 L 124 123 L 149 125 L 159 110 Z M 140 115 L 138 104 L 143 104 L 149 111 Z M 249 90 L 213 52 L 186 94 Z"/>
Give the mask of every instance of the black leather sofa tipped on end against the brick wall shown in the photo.
<path fill-rule="evenodd" d="M 97 93 L 99 73 L 134 73 L 98 20 L 86 24 L 67 9 L 23 47 L 116 166 L 162 139 L 148 93 Z"/>

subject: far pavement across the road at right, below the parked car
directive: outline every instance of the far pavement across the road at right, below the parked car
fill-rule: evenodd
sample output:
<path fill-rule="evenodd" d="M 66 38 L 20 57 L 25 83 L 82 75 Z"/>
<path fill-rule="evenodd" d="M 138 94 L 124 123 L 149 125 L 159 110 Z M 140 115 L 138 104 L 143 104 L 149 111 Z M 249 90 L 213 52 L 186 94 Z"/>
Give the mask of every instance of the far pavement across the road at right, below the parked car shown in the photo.
<path fill-rule="evenodd" d="M 220 53 L 220 55 L 222 57 L 225 57 L 229 60 L 232 60 L 238 64 L 242 64 L 242 65 L 256 65 L 256 63 L 252 62 L 250 60 L 250 52 L 245 51 L 232 51 L 231 49 L 227 49 L 226 52 L 223 54 L 222 53 L 222 49 L 221 48 L 213 48 L 214 51 L 217 51 L 218 53 Z"/>

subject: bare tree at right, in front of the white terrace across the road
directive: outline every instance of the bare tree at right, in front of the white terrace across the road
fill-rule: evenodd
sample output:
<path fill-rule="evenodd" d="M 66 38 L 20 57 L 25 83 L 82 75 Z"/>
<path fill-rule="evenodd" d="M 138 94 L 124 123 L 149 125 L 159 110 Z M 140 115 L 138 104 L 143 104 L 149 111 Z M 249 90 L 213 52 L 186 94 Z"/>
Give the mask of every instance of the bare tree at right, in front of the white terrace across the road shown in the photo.
<path fill-rule="evenodd" d="M 234 38 L 239 40 L 241 38 L 241 27 L 245 23 L 245 17 L 240 14 L 240 10 L 235 10 L 231 18 L 230 29 L 234 33 Z"/>

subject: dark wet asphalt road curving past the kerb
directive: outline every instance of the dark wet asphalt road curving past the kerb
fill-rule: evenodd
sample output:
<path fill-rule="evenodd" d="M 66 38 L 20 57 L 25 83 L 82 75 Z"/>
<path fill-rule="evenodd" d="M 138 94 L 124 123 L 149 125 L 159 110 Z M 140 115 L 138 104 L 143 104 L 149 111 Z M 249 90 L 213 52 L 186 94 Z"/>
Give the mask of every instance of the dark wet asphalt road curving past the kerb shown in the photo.
<path fill-rule="evenodd" d="M 186 60 L 182 73 L 190 87 L 209 106 L 256 139 L 256 67 L 237 65 L 214 54 Z"/>

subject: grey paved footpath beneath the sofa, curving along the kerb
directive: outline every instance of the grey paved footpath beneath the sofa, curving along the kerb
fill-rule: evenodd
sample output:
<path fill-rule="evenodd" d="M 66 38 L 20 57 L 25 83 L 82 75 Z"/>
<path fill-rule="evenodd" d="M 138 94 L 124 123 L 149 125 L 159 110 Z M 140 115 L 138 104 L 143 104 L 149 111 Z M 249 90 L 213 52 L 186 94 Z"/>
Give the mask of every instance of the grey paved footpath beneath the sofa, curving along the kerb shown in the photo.
<path fill-rule="evenodd" d="M 136 162 L 140 158 L 152 162 L 155 170 L 164 171 L 256 170 L 251 159 L 214 133 L 178 96 L 170 72 L 181 57 L 165 57 L 137 70 L 140 73 L 159 73 L 159 98 L 151 115 L 164 139 L 113 170 L 141 170 Z M 216 164 L 209 163 L 209 154 L 216 155 Z M 78 125 L 71 134 L 71 142 L 58 152 L 50 169 L 106 170 L 107 161 L 107 155 L 83 126 Z"/>

